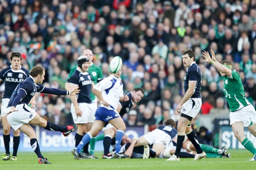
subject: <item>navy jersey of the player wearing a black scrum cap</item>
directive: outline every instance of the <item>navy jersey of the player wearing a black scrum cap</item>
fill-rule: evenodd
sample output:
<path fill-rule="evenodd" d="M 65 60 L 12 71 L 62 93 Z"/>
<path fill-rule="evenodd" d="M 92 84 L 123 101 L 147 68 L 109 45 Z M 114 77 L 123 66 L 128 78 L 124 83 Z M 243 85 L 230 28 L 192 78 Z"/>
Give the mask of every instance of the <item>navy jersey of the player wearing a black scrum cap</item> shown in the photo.
<path fill-rule="evenodd" d="M 79 94 L 77 95 L 78 103 L 91 103 L 91 86 L 92 86 L 92 77 L 90 74 L 81 73 L 79 70 L 72 74 L 70 77 L 69 83 L 75 84 L 79 86 Z"/>

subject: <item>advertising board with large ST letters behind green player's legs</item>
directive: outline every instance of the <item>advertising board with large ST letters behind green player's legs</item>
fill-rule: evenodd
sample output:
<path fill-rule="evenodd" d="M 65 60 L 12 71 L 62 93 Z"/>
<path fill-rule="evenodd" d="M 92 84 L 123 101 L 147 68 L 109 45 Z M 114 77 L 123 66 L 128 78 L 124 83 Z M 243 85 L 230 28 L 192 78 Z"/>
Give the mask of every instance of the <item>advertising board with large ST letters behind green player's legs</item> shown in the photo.
<path fill-rule="evenodd" d="M 256 146 L 256 138 L 247 128 L 244 128 L 244 135 Z M 221 126 L 220 140 L 221 146 L 225 145 L 227 149 L 244 149 L 244 146 L 234 136 L 230 126 Z"/>

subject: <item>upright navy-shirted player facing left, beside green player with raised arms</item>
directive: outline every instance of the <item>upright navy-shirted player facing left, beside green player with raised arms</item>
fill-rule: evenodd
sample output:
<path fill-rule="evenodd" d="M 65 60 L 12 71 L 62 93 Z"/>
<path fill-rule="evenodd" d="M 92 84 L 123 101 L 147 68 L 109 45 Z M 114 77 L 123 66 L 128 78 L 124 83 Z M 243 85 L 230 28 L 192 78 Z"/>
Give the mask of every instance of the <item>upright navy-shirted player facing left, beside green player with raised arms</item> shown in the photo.
<path fill-rule="evenodd" d="M 200 111 L 201 100 L 201 71 L 195 63 L 195 53 L 191 50 L 186 50 L 182 54 L 184 67 L 187 67 L 186 75 L 184 77 L 184 91 L 185 94 L 177 106 L 177 112 L 180 114 L 178 121 L 178 137 L 175 154 L 172 155 L 168 161 L 179 161 L 180 150 L 182 148 L 185 135 L 189 138 L 196 149 L 196 156 L 194 160 L 199 160 L 206 157 L 206 153 L 201 149 L 198 141 L 195 138 L 195 132 L 191 129 L 191 123 L 195 116 Z"/>

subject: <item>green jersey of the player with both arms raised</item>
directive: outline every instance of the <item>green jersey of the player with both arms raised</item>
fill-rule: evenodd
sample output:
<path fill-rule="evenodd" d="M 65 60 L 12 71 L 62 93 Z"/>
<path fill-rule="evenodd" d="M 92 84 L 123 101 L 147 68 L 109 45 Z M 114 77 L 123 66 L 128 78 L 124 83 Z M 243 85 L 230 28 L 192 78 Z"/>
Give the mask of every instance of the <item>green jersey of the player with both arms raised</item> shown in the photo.
<path fill-rule="evenodd" d="M 236 71 L 232 71 L 231 77 L 224 77 L 224 94 L 230 106 L 230 112 L 234 112 L 250 105 L 244 95 L 244 86 Z"/>

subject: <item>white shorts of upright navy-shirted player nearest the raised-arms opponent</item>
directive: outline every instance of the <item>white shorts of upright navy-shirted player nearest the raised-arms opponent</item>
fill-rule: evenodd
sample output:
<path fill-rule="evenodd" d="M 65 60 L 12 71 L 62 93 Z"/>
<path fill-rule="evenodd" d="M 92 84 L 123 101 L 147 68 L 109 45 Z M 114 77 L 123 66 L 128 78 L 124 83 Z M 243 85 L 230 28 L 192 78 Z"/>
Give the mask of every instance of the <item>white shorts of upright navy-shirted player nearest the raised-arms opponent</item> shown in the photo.
<path fill-rule="evenodd" d="M 199 113 L 201 106 L 201 98 L 190 98 L 182 105 L 181 113 L 195 118 L 195 116 Z"/>

